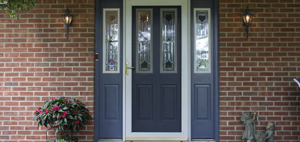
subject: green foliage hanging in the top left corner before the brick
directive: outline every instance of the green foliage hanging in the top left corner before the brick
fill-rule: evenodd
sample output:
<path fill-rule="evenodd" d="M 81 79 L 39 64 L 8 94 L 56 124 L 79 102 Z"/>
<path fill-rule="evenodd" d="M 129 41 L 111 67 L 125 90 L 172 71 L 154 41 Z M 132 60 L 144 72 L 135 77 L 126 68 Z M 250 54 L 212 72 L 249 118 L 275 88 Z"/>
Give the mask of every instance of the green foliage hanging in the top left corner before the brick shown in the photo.
<path fill-rule="evenodd" d="M 0 0 L 0 2 L 4 1 Z M 0 4 L 0 10 L 8 13 L 11 19 L 14 17 L 19 20 L 18 11 L 31 12 L 32 8 L 35 8 L 35 3 L 37 3 L 37 0 L 8 0 L 7 4 Z"/>

